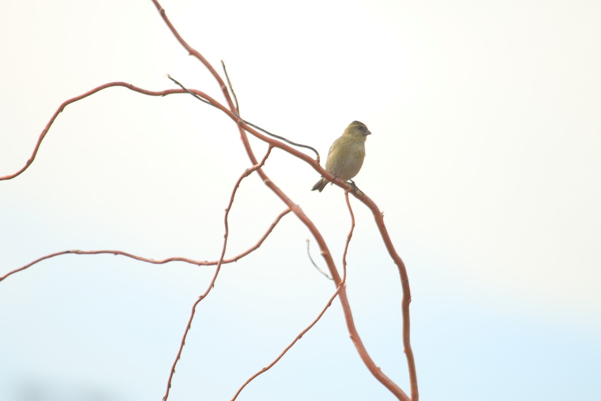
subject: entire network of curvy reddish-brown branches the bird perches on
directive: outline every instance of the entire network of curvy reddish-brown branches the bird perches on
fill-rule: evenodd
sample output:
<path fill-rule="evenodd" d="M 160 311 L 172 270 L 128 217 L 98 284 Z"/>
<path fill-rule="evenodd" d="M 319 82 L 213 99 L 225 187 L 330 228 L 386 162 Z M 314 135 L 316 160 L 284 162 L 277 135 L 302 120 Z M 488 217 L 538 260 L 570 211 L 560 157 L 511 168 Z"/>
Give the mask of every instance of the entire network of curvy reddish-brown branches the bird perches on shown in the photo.
<path fill-rule="evenodd" d="M 199 298 L 197 299 L 197 301 L 192 306 L 191 314 L 190 314 L 190 317 L 188 320 L 188 325 L 186 326 L 185 332 L 182 337 L 182 342 L 180 344 L 180 349 L 178 350 L 177 356 L 175 357 L 175 361 L 172 366 L 171 373 L 169 375 L 167 389 L 166 389 L 166 393 L 165 393 L 165 399 L 166 399 L 169 394 L 169 388 L 171 387 L 171 379 L 175 372 L 175 365 L 177 364 L 177 361 L 179 360 L 179 358 L 181 356 L 183 345 L 184 345 L 185 339 L 186 339 L 186 335 L 188 334 L 189 329 L 191 327 L 192 320 L 194 319 L 195 309 L 196 309 L 198 303 L 202 299 L 204 299 L 209 294 L 211 289 L 213 288 L 213 284 L 215 283 L 215 280 L 218 277 L 219 270 L 221 269 L 222 264 L 237 260 L 240 257 L 245 256 L 252 250 L 258 248 L 258 246 L 260 246 L 261 242 L 263 242 L 263 240 L 267 237 L 267 235 L 269 235 L 269 233 L 271 231 L 271 229 L 269 231 L 267 231 L 267 233 L 259 241 L 259 243 L 254 248 L 249 249 L 249 251 L 247 251 L 246 253 L 243 253 L 242 255 L 239 255 L 236 258 L 231 259 L 231 260 L 225 259 L 225 251 L 227 248 L 227 238 L 228 238 L 228 220 L 227 220 L 227 218 L 228 218 L 229 210 L 231 209 L 231 206 L 233 204 L 237 186 L 239 185 L 240 181 L 244 177 L 248 176 L 251 173 L 257 173 L 263 180 L 264 184 L 268 188 L 270 188 L 272 190 L 272 192 L 276 195 L 276 197 L 278 197 L 287 206 L 287 211 L 282 213 L 278 217 L 278 219 L 276 219 L 276 221 L 272 224 L 272 228 L 273 228 L 273 226 L 275 226 L 275 224 L 277 224 L 279 219 L 285 213 L 288 213 L 288 211 L 293 212 L 294 215 L 296 215 L 297 218 L 299 218 L 299 220 L 301 220 L 303 222 L 305 227 L 307 227 L 307 229 L 310 231 L 310 233 L 313 235 L 314 239 L 316 240 L 317 244 L 319 245 L 320 253 L 323 256 L 323 259 L 325 260 L 326 266 L 328 267 L 329 273 L 330 273 L 332 280 L 334 281 L 334 284 L 336 287 L 334 295 L 328 302 L 328 305 L 326 305 L 326 308 L 324 308 L 322 313 L 320 313 L 320 315 L 317 317 L 317 319 L 314 320 L 314 322 L 311 323 L 311 325 L 309 325 L 306 329 L 304 329 L 304 331 L 302 331 L 301 334 L 299 334 L 299 336 L 297 336 L 297 338 L 292 341 L 292 343 L 284 350 L 284 352 L 282 352 L 282 354 L 278 358 L 276 358 L 275 361 L 273 361 L 273 363 L 270 366 L 273 366 L 273 364 L 275 364 L 279 360 L 279 358 L 282 357 L 282 355 L 286 352 L 286 350 L 289 349 L 291 346 L 293 346 L 293 344 L 298 340 L 298 338 L 300 338 L 303 334 L 305 334 L 305 332 L 307 332 L 317 322 L 317 320 L 319 320 L 320 316 L 322 316 L 323 313 L 325 313 L 325 310 L 327 309 L 329 304 L 331 304 L 332 300 L 336 296 L 338 296 L 338 298 L 340 298 L 340 302 L 341 302 L 341 305 L 343 308 L 343 313 L 344 313 L 344 317 L 346 320 L 347 329 L 350 334 L 350 338 L 352 339 L 353 344 L 355 345 L 355 347 L 358 351 L 358 354 L 361 357 L 361 360 L 364 362 L 364 364 L 368 368 L 368 370 L 370 370 L 372 375 L 378 381 L 380 381 L 380 383 L 382 383 L 382 385 L 384 385 L 386 388 L 388 388 L 388 390 L 390 390 L 397 397 L 397 399 L 403 400 L 403 401 L 408 401 L 409 397 L 407 396 L 407 394 L 405 394 L 404 391 L 401 390 L 401 388 L 398 387 L 397 384 L 395 384 L 393 381 L 391 381 L 391 379 L 389 379 L 388 376 L 386 376 L 382 372 L 382 370 L 380 370 L 379 367 L 376 366 L 374 361 L 371 360 L 371 357 L 368 354 L 367 350 L 365 349 L 365 346 L 362 343 L 361 337 L 359 337 L 359 334 L 355 327 L 355 323 L 354 323 L 353 316 L 351 313 L 349 301 L 348 301 L 347 295 L 346 295 L 346 287 L 344 286 L 344 283 L 346 280 L 346 253 L 347 253 L 347 249 L 349 246 L 350 238 L 352 237 L 352 230 L 354 227 L 354 216 L 352 214 L 352 210 L 350 209 L 349 191 L 347 189 L 346 184 L 341 182 L 336 177 L 332 176 L 332 174 L 323 170 L 323 168 L 319 165 L 319 156 L 317 159 L 313 159 L 310 156 L 306 155 L 305 153 L 302 153 L 299 150 L 297 150 L 296 148 L 291 147 L 290 145 L 286 144 L 285 142 L 279 141 L 278 139 L 270 137 L 269 135 L 264 135 L 264 133 L 261 133 L 261 132 L 259 132 L 259 130 L 257 130 L 257 126 L 242 120 L 242 118 L 240 118 L 239 111 L 237 109 L 238 105 L 236 103 L 234 103 L 233 99 L 230 96 L 230 91 L 228 91 L 227 85 L 225 85 L 224 80 L 216 72 L 215 68 L 213 68 L 213 66 L 198 51 L 193 49 L 191 46 L 189 46 L 188 43 L 186 43 L 183 40 L 183 38 L 178 34 L 178 32 L 176 31 L 174 26 L 171 24 L 171 22 L 169 22 L 168 18 L 166 17 L 165 10 L 163 10 L 163 8 L 160 6 L 159 2 L 157 0 L 152 0 L 152 1 L 153 1 L 154 5 L 156 6 L 157 10 L 159 11 L 160 16 L 163 18 L 163 20 L 165 21 L 166 25 L 169 27 L 171 32 L 175 35 L 175 37 L 177 38 L 179 43 L 182 44 L 183 47 L 185 47 L 186 51 L 188 51 L 189 54 L 193 55 L 201 63 L 203 63 L 203 65 L 205 67 L 207 67 L 209 72 L 213 75 L 213 77 L 215 78 L 216 82 L 219 85 L 219 88 L 220 88 L 223 96 L 225 97 L 225 103 L 227 104 L 227 106 L 222 105 L 221 103 L 217 102 L 215 99 L 213 99 L 212 97 L 210 97 L 209 95 L 207 95 L 206 93 L 204 93 L 202 91 L 191 90 L 191 89 L 186 89 L 186 88 L 172 89 L 172 90 L 165 90 L 165 91 L 148 91 L 148 90 L 144 90 L 142 88 L 135 87 L 134 85 L 127 84 L 126 82 L 111 82 L 111 83 L 108 83 L 105 85 L 100 85 L 99 87 L 94 88 L 93 90 L 88 91 L 87 93 L 84 93 L 81 96 L 74 97 L 73 99 L 69 99 L 69 100 L 66 100 L 66 102 L 63 102 L 63 104 L 61 104 L 59 106 L 59 108 L 56 110 L 56 112 L 52 116 L 52 118 L 50 118 L 50 121 L 46 124 L 46 127 L 44 127 L 44 130 L 41 132 L 41 134 L 38 138 L 38 141 L 35 144 L 32 155 L 30 156 L 28 161 L 25 163 L 25 165 L 16 173 L 9 174 L 4 177 L 0 177 L 0 181 L 13 179 L 14 177 L 19 176 L 19 174 L 23 173 L 23 171 L 25 171 L 29 167 L 29 165 L 32 164 L 32 162 L 35 159 L 35 155 L 37 155 L 37 152 L 40 148 L 40 144 L 43 141 L 44 137 L 46 136 L 48 130 L 50 129 L 50 126 L 52 126 L 53 121 L 55 121 L 56 117 L 58 117 L 58 114 L 60 112 L 62 112 L 63 109 L 70 103 L 84 99 L 84 97 L 90 96 L 91 94 L 94 94 L 100 90 L 104 90 L 109 87 L 126 87 L 132 91 L 136 91 L 136 92 L 142 93 L 142 94 L 147 94 L 149 96 L 165 96 L 168 94 L 176 94 L 176 93 L 178 93 L 178 94 L 193 93 L 196 96 L 204 99 L 207 103 L 210 103 L 210 105 L 212 105 L 212 106 L 218 108 L 220 111 L 224 112 L 224 114 L 228 115 L 228 117 L 230 117 L 234 121 L 234 123 L 236 123 L 237 129 L 239 130 L 239 133 L 240 133 L 240 139 L 242 140 L 243 147 L 245 148 L 248 158 L 252 164 L 251 169 L 245 171 L 245 173 L 243 173 L 242 176 L 240 176 L 240 179 L 236 183 L 236 186 L 234 186 L 233 192 L 231 194 L 230 204 L 228 205 L 228 207 L 226 209 L 225 218 L 224 218 L 225 236 L 224 236 L 224 244 L 222 246 L 222 252 L 221 252 L 221 256 L 219 257 L 219 260 L 216 262 L 199 262 L 199 261 L 189 260 L 189 259 L 185 259 L 185 258 L 170 258 L 170 259 L 165 259 L 162 261 L 156 261 L 156 260 L 152 260 L 152 259 L 145 259 L 142 257 L 133 256 L 131 254 L 123 253 L 121 251 L 63 251 L 63 252 L 48 255 L 46 257 L 42 257 L 32 263 L 29 263 L 29 265 L 23 266 L 22 268 L 19 268 L 12 272 L 9 272 L 8 274 L 4 275 L 4 277 L 0 277 L 0 281 L 4 280 L 4 278 L 10 276 L 11 274 L 22 271 L 23 269 L 26 269 L 29 266 L 32 266 L 35 263 L 40 262 L 41 260 L 48 259 L 49 257 L 55 257 L 55 256 L 58 256 L 61 254 L 67 254 L 67 253 L 79 253 L 79 254 L 114 253 L 114 254 L 121 254 L 121 255 L 127 256 L 127 257 L 133 257 L 134 259 L 138 259 L 138 260 L 144 260 L 144 262 L 149 262 L 149 263 L 167 263 L 167 262 L 171 262 L 174 260 L 180 260 L 183 262 L 193 263 L 195 265 L 209 265 L 209 264 L 216 265 L 215 274 L 213 275 L 213 278 L 212 278 L 209 286 L 207 287 L 207 289 L 203 293 L 203 295 L 200 295 Z M 228 79 L 228 82 L 229 82 L 229 79 Z M 266 142 L 267 144 L 269 144 L 269 150 L 261 162 L 257 161 L 257 158 L 254 155 L 254 151 L 252 150 L 251 145 L 249 144 L 249 141 L 248 141 L 248 136 L 246 135 L 247 132 L 250 133 L 251 135 L 254 135 L 255 137 L 261 139 L 262 141 Z M 279 136 L 276 136 L 276 138 L 284 139 L 285 141 L 287 141 L 287 139 L 279 137 Z M 307 164 L 311 165 L 311 167 L 313 167 L 320 175 L 326 177 L 326 179 L 331 180 L 335 185 L 338 185 L 341 188 L 346 190 L 345 197 L 346 197 L 347 205 L 349 206 L 349 211 L 350 211 L 351 220 L 352 220 L 352 228 L 349 233 L 349 237 L 347 239 L 347 244 L 346 244 L 345 250 L 344 250 L 344 257 L 343 257 L 343 262 L 342 262 L 344 272 L 343 272 L 342 278 L 340 277 L 340 274 L 338 273 L 338 270 L 334 263 L 334 259 L 332 259 L 328 245 L 326 244 L 325 240 L 323 239 L 322 234 L 319 232 L 319 230 L 317 230 L 317 227 L 313 224 L 311 219 L 308 218 L 307 215 L 305 215 L 303 210 L 299 206 L 297 206 L 297 204 L 294 203 L 294 201 L 292 201 L 279 188 L 279 186 L 277 186 L 274 182 L 272 182 L 272 180 L 270 180 L 269 177 L 266 175 L 266 173 L 263 171 L 263 168 L 262 168 L 263 163 L 266 161 L 266 158 L 269 156 L 269 152 L 273 147 L 280 148 L 280 149 L 284 150 L 285 152 L 287 152 L 288 154 L 290 154 L 291 156 L 302 159 L 303 161 L 307 162 Z M 419 393 L 418 393 L 417 379 L 416 379 L 415 360 L 413 358 L 413 352 L 412 352 L 412 349 L 410 346 L 410 335 L 409 335 L 410 334 L 409 333 L 409 327 L 410 327 L 409 326 L 409 322 L 410 322 L 409 321 L 409 303 L 411 301 L 411 295 L 410 295 L 409 279 L 407 277 L 407 271 L 406 271 L 403 261 L 398 256 L 397 252 L 395 251 L 394 245 L 392 245 L 391 238 L 389 237 L 388 231 L 386 230 L 385 224 L 383 222 L 383 213 L 380 212 L 380 209 L 377 207 L 377 205 L 367 195 L 363 194 L 362 192 L 352 192 L 352 194 L 356 199 L 358 199 L 359 201 L 364 203 L 371 210 L 371 212 L 374 216 L 374 221 L 376 221 L 376 225 L 380 231 L 380 235 L 382 236 L 382 240 L 385 243 L 386 249 L 388 250 L 388 253 L 391 256 L 394 263 L 397 265 L 397 268 L 398 268 L 398 271 L 400 274 L 401 287 L 403 289 L 403 299 L 401 301 L 401 310 L 403 312 L 403 345 L 404 345 L 404 352 L 406 354 L 406 359 L 407 359 L 407 366 L 409 368 L 410 386 L 411 386 L 410 400 L 418 401 Z M 242 387 L 240 387 L 237 394 L 239 394 L 240 391 L 242 391 L 242 388 L 246 384 L 248 384 L 249 381 L 251 381 L 254 377 L 260 375 L 260 373 L 262 373 L 262 372 L 263 371 L 258 372 L 257 374 L 255 374 L 255 376 L 250 378 L 244 385 L 242 385 Z M 237 394 L 236 394 L 236 396 L 237 396 Z M 234 398 L 236 398 L 236 396 L 234 396 Z"/>

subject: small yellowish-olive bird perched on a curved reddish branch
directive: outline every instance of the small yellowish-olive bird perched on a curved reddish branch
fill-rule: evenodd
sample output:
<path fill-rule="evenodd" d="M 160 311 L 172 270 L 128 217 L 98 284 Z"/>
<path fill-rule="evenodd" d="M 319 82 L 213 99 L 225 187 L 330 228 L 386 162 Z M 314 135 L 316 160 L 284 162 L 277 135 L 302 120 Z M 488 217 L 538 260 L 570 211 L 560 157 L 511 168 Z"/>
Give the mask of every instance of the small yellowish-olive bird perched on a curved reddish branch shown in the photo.
<path fill-rule="evenodd" d="M 365 139 L 370 135 L 364 123 L 353 121 L 344 130 L 342 136 L 334 141 L 328 159 L 326 160 L 326 171 L 335 177 L 347 181 L 359 173 L 365 158 Z M 316 189 L 322 192 L 329 180 L 322 177 L 311 191 Z"/>

